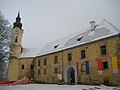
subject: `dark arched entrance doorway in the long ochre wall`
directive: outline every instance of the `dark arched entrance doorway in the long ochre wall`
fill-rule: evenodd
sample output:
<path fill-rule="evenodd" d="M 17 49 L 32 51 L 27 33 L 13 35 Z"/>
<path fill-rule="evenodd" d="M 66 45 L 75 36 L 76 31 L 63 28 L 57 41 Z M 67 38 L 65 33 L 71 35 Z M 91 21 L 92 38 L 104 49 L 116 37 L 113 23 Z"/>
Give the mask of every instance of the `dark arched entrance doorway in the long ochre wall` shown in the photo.
<path fill-rule="evenodd" d="M 67 71 L 67 84 L 75 84 L 75 70 L 72 67 Z"/>

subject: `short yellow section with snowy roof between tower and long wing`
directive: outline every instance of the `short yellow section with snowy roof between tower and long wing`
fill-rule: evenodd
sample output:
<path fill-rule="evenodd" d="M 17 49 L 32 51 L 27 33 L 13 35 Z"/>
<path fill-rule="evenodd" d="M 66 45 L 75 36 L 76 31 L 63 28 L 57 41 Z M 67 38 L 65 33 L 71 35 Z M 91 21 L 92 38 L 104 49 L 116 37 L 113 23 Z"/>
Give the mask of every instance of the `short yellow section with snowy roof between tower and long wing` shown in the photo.
<path fill-rule="evenodd" d="M 27 78 L 34 79 L 34 61 L 38 49 L 36 48 L 23 48 L 23 52 L 19 55 L 19 79 Z"/>

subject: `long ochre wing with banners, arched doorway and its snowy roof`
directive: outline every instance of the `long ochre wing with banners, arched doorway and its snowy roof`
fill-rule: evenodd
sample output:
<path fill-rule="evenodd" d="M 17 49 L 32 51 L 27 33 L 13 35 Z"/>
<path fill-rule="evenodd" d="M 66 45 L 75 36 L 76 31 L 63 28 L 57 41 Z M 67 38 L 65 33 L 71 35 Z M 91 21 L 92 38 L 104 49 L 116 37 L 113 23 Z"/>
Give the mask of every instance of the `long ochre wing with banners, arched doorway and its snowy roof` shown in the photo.
<path fill-rule="evenodd" d="M 90 25 L 39 51 L 35 82 L 120 85 L 120 30 L 105 19 Z"/>

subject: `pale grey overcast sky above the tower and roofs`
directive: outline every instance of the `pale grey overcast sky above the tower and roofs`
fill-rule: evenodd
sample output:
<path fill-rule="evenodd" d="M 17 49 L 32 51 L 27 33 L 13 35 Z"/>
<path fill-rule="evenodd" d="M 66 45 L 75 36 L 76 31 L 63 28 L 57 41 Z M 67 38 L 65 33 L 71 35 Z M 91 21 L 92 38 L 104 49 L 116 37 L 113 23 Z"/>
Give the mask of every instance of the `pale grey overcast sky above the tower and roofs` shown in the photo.
<path fill-rule="evenodd" d="M 0 11 L 10 24 L 19 10 L 27 48 L 42 48 L 90 27 L 92 20 L 106 19 L 120 29 L 120 0 L 0 0 Z"/>

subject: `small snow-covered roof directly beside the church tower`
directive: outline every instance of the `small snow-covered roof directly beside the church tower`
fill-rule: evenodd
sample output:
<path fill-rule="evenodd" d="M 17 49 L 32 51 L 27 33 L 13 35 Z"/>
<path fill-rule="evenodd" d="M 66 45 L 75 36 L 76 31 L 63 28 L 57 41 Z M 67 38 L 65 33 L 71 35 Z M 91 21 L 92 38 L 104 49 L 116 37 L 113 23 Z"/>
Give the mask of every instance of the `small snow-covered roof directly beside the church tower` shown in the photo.
<path fill-rule="evenodd" d="M 18 58 L 30 58 L 30 57 L 36 57 L 38 53 L 38 49 L 36 48 L 23 48 L 23 52 Z"/>

